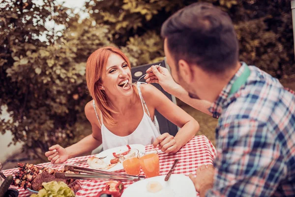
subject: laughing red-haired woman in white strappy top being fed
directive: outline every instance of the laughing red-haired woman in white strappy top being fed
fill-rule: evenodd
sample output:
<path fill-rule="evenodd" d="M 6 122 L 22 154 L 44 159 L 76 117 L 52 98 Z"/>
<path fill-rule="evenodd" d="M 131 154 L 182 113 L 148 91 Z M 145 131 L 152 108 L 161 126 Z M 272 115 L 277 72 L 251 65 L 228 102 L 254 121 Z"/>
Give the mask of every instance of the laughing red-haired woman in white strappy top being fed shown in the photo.
<path fill-rule="evenodd" d="M 128 58 L 115 47 L 103 47 L 87 61 L 86 80 L 93 100 L 85 106 L 92 134 L 62 148 L 54 145 L 45 153 L 53 164 L 89 153 L 101 143 L 103 149 L 127 144 L 153 144 L 163 152 L 176 153 L 199 130 L 198 122 L 150 84 L 132 81 Z M 124 87 L 123 87 L 124 86 Z M 180 130 L 176 136 L 160 134 L 155 110 Z"/>

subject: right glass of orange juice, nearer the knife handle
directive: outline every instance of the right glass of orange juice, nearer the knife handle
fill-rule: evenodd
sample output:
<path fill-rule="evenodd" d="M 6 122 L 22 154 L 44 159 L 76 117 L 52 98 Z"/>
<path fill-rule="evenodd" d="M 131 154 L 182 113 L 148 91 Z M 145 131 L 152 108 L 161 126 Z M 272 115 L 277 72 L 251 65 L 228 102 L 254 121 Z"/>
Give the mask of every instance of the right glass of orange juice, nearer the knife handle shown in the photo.
<path fill-rule="evenodd" d="M 152 150 L 138 155 L 139 164 L 147 178 L 158 176 L 160 173 L 160 164 L 158 151 Z"/>

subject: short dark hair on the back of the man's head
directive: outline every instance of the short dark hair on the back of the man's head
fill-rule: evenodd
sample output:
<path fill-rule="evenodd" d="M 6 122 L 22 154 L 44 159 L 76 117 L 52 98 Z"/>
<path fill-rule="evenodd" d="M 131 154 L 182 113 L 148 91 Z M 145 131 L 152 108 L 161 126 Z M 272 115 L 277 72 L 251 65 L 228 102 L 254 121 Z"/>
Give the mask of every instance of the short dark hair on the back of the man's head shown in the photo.
<path fill-rule="evenodd" d="M 161 35 L 176 65 L 180 59 L 202 69 L 224 72 L 238 61 L 238 41 L 229 15 L 209 3 L 193 3 L 163 24 Z M 178 66 L 177 66 L 178 67 Z"/>

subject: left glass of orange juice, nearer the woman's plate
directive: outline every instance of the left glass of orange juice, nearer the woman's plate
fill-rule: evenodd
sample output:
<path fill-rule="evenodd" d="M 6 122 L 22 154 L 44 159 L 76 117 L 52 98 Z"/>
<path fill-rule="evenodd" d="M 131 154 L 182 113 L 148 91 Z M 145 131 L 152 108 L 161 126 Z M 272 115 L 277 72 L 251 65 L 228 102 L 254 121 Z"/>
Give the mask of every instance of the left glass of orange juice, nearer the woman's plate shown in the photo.
<path fill-rule="evenodd" d="M 139 151 L 137 149 L 130 149 L 119 155 L 119 160 L 121 161 L 124 170 L 129 175 L 139 175 L 140 174 L 140 164 L 137 158 Z"/>

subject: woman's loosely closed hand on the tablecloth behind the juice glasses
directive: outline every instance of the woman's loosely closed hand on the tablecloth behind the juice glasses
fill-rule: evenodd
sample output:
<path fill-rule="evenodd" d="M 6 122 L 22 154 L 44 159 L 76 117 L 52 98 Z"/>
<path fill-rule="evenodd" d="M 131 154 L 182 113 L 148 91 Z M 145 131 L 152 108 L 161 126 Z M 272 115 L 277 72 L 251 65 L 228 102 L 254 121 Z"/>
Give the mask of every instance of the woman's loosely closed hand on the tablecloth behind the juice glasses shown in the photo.
<path fill-rule="evenodd" d="M 165 153 L 176 153 L 180 148 L 173 135 L 165 132 L 158 136 L 152 144 L 154 147 L 158 147 Z"/>

